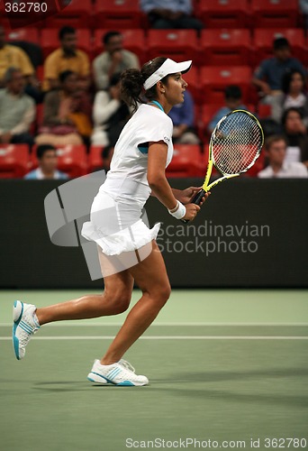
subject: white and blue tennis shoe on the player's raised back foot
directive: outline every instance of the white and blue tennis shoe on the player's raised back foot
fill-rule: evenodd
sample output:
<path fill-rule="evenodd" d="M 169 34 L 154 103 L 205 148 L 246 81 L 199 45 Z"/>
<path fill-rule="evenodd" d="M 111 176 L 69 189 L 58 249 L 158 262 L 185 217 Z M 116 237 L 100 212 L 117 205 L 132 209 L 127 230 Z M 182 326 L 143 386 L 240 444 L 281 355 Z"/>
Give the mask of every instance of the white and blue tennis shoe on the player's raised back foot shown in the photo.
<path fill-rule="evenodd" d="M 22 360 L 25 354 L 25 347 L 33 334 L 39 330 L 40 325 L 35 318 L 36 307 L 32 304 L 25 304 L 20 300 L 15 300 L 13 308 L 13 345 L 16 359 Z"/>

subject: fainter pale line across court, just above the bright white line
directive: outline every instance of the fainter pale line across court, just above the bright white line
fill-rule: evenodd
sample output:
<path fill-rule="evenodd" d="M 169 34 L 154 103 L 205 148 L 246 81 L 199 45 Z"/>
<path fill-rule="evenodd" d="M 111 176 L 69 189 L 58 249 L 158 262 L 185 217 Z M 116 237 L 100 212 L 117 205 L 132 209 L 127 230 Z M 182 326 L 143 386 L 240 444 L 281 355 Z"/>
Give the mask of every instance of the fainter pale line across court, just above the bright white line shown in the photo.
<path fill-rule="evenodd" d="M 98 323 L 71 321 L 69 323 L 62 321 L 60 323 L 46 324 L 44 327 L 121 327 L 122 323 Z M 0 327 L 12 327 L 13 323 L 0 323 Z M 150 327 L 308 327 L 308 323 L 153 323 Z"/>

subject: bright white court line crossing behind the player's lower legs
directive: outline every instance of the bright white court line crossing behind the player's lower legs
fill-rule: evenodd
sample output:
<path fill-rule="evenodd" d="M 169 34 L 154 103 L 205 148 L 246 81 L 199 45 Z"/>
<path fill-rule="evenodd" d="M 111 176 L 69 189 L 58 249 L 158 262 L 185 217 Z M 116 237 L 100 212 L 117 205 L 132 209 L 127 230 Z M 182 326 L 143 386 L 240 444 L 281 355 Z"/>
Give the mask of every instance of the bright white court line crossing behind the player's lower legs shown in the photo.
<path fill-rule="evenodd" d="M 34 336 L 33 340 L 113 340 L 114 336 Z M 140 340 L 308 340 L 308 336 L 140 336 Z M 0 341 L 12 340 L 0 336 Z"/>

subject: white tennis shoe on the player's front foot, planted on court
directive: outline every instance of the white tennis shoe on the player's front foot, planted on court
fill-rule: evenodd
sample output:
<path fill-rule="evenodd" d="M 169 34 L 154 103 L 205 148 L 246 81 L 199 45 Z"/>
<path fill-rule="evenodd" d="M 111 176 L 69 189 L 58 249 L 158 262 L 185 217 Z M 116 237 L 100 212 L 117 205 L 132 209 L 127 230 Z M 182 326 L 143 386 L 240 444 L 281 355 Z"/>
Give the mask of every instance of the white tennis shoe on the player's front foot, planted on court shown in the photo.
<path fill-rule="evenodd" d="M 91 372 L 87 375 L 87 380 L 122 386 L 140 386 L 149 383 L 146 376 L 135 374 L 135 369 L 131 364 L 122 359 L 116 364 L 110 365 L 102 365 L 99 360 L 95 360 Z"/>

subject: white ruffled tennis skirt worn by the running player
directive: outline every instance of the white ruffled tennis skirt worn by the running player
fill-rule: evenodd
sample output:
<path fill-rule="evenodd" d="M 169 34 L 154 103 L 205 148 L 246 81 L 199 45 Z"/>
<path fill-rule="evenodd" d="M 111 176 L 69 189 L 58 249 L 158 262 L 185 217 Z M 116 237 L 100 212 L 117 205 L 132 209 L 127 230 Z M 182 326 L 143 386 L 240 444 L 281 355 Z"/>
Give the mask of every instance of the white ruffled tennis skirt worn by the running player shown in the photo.
<path fill-rule="evenodd" d="M 106 255 L 136 251 L 156 239 L 160 223 L 153 228 L 142 221 L 142 206 L 129 200 L 114 200 L 100 190 L 95 196 L 90 221 L 81 231 L 87 240 L 95 241 Z"/>

